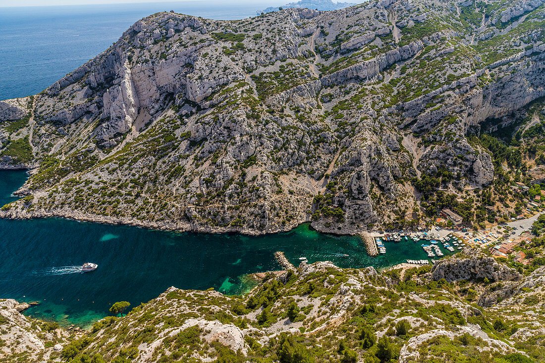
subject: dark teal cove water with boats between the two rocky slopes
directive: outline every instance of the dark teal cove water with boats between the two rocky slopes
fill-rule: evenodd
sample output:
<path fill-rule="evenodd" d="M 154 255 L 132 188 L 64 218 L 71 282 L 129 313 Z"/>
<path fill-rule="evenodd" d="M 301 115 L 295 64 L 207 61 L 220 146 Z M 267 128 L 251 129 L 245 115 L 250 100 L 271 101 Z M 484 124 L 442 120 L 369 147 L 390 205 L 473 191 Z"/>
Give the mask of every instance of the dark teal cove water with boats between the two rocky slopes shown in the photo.
<path fill-rule="evenodd" d="M 0 171 L 0 205 L 15 200 L 27 175 Z M 116 301 L 131 307 L 168 287 L 240 294 L 251 287 L 246 274 L 280 269 L 275 251 L 295 265 L 332 261 L 343 268 L 384 268 L 405 259 L 426 259 L 420 244 L 385 242 L 386 255 L 370 257 L 359 237 L 292 231 L 258 237 L 154 231 L 65 219 L 0 219 L 0 298 L 39 301 L 27 316 L 66 326 L 89 326 Z M 348 255 L 348 256 L 345 256 Z M 80 273 L 84 262 L 99 265 Z"/>

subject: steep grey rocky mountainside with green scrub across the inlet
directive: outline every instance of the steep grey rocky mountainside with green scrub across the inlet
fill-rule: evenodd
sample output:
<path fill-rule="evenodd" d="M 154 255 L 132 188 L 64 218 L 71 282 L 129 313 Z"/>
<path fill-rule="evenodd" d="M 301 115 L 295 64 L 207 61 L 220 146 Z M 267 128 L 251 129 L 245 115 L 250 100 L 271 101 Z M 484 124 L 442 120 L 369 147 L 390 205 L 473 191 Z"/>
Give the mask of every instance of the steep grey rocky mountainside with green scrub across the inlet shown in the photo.
<path fill-rule="evenodd" d="M 245 233 L 417 218 L 411 178 L 492 183 L 467 135 L 545 95 L 543 37 L 538 0 L 154 14 L 0 102 L 0 166 L 39 165 L 1 213 Z"/>

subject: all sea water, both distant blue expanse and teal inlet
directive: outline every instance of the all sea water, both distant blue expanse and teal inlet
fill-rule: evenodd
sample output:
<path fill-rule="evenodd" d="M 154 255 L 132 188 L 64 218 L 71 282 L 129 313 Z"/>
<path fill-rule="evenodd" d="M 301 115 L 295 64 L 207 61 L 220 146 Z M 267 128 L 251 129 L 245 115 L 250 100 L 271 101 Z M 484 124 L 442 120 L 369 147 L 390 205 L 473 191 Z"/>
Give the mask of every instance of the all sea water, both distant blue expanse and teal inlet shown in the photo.
<path fill-rule="evenodd" d="M 0 8 L 0 99 L 40 92 L 105 50 L 132 23 L 157 11 L 210 19 L 243 19 L 278 3 L 195 1 L 64 7 Z M 0 206 L 27 179 L 0 171 Z M 412 241 L 385 242 L 387 253 L 367 256 L 358 237 L 319 233 L 307 224 L 289 232 L 251 237 L 102 225 L 67 219 L 0 219 L 0 298 L 37 301 L 28 316 L 63 326 L 88 327 L 116 301 L 132 307 L 167 288 L 214 288 L 243 294 L 248 274 L 280 269 L 275 251 L 297 265 L 332 261 L 340 267 L 384 268 L 426 259 Z M 443 251 L 447 254 L 447 251 Z M 84 262 L 98 269 L 81 273 Z"/>

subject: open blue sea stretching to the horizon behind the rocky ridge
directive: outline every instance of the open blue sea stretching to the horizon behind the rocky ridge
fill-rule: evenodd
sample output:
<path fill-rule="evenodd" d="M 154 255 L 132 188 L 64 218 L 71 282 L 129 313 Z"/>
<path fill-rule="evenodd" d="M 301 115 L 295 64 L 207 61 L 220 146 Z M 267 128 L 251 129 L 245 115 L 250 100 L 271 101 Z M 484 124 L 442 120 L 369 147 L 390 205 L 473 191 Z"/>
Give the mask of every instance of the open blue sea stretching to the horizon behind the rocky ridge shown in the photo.
<path fill-rule="evenodd" d="M 217 0 L 0 8 L 0 100 L 37 94 L 159 11 L 234 20 L 278 1 Z"/>

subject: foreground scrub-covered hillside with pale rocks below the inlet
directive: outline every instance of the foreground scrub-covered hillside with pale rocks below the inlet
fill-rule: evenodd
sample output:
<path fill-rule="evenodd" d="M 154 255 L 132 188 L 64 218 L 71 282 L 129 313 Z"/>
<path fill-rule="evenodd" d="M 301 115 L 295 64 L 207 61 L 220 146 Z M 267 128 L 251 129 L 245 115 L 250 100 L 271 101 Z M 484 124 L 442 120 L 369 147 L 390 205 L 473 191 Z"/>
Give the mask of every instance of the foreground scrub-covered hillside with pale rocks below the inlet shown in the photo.
<path fill-rule="evenodd" d="M 452 274 L 456 266 L 456 274 Z M 6 362 L 543 362 L 543 276 L 470 249 L 433 268 L 302 263 L 245 297 L 169 288 L 81 333 L 29 321 L 0 302 Z M 465 280 L 453 279 L 467 274 Z M 438 279 L 439 275 L 444 276 Z M 494 296 L 495 299 L 490 299 Z M 482 299 L 486 297 L 486 299 Z M 486 300 L 486 304 L 483 301 Z M 10 341 L 11 342 L 11 341 Z M 54 344 L 59 344 L 57 347 Z"/>

